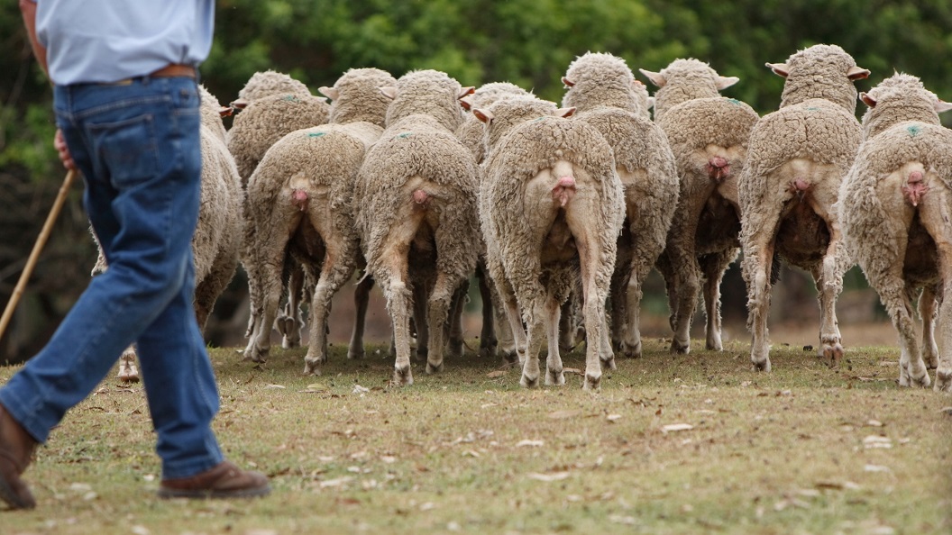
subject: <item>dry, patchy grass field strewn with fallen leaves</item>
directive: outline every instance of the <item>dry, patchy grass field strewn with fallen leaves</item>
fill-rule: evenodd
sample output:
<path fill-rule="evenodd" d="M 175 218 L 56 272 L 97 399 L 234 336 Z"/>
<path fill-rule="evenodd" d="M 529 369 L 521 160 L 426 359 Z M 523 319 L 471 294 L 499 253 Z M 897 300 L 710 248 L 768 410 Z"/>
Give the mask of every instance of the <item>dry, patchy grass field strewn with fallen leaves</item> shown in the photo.
<path fill-rule="evenodd" d="M 390 389 L 382 346 L 356 362 L 334 346 L 320 377 L 301 375 L 304 349 L 263 367 L 213 349 L 216 430 L 268 498 L 157 499 L 142 387 L 110 377 L 30 466 L 37 509 L 0 511 L 0 533 L 952 532 L 952 397 L 900 389 L 896 347 L 847 347 L 830 369 L 776 343 L 769 374 L 746 342 L 698 347 L 646 339 L 597 394 L 573 373 L 526 390 L 471 353 Z"/>

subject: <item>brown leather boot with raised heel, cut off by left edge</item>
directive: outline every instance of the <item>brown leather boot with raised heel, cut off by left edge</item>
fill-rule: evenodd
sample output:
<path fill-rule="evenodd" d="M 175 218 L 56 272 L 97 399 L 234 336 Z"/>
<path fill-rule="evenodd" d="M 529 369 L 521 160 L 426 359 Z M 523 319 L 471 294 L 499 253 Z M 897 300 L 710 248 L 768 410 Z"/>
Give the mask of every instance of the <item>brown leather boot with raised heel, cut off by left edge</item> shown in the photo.
<path fill-rule="evenodd" d="M 36 506 L 30 487 L 20 479 L 32 461 L 36 444 L 30 433 L 0 405 L 0 500 L 12 509 Z"/>

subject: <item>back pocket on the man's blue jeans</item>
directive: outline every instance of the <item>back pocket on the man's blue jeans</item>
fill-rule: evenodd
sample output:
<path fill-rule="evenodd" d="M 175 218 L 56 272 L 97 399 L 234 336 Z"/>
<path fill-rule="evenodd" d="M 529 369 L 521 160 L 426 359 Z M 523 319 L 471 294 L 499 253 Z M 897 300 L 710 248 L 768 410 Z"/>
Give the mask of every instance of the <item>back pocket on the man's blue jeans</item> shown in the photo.
<path fill-rule="evenodd" d="M 159 172 L 159 148 L 151 114 L 110 123 L 88 125 L 100 162 L 109 169 L 113 188 L 124 189 L 148 181 Z"/>

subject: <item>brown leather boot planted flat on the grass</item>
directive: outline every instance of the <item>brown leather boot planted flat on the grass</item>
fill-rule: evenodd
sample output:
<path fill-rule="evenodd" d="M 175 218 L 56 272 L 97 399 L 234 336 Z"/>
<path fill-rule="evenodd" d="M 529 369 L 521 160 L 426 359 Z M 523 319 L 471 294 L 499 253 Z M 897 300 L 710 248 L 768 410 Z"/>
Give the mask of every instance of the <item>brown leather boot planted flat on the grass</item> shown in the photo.
<path fill-rule="evenodd" d="M 270 491 L 265 474 L 224 461 L 188 478 L 163 481 L 159 498 L 253 498 Z"/>

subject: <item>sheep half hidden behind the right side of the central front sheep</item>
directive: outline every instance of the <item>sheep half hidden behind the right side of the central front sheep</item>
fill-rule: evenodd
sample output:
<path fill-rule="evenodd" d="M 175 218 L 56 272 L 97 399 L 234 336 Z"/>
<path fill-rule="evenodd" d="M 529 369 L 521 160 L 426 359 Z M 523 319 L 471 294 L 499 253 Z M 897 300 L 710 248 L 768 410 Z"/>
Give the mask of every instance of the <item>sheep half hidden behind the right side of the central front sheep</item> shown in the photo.
<path fill-rule="evenodd" d="M 642 285 L 664 249 L 678 204 L 674 155 L 664 131 L 647 116 L 645 85 L 635 80 L 624 59 L 588 52 L 569 65 L 562 81 L 568 88 L 563 107 L 575 108 L 573 119 L 605 137 L 625 190 L 625 224 L 610 289 L 611 339 L 625 356 L 641 357 Z M 611 350 L 607 330 L 600 341 L 603 351 Z"/>

